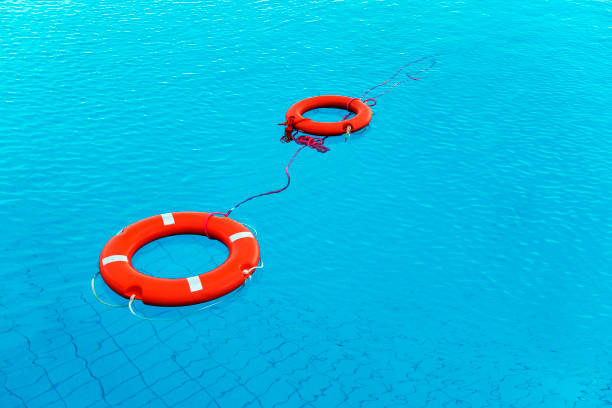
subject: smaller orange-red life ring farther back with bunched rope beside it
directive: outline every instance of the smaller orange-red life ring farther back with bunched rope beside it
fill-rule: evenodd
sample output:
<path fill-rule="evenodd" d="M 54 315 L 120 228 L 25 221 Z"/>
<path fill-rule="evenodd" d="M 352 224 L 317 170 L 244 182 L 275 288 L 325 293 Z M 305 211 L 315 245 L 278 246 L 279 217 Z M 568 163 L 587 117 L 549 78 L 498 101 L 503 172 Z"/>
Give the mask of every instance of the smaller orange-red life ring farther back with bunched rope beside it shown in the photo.
<path fill-rule="evenodd" d="M 355 116 L 339 122 L 317 122 L 305 118 L 304 113 L 319 108 L 347 109 Z M 303 99 L 287 111 L 287 127 L 317 136 L 337 136 L 347 130 L 356 132 L 366 127 L 372 119 L 372 109 L 359 98 L 341 95 L 321 95 Z M 350 126 L 350 128 L 349 128 Z"/>

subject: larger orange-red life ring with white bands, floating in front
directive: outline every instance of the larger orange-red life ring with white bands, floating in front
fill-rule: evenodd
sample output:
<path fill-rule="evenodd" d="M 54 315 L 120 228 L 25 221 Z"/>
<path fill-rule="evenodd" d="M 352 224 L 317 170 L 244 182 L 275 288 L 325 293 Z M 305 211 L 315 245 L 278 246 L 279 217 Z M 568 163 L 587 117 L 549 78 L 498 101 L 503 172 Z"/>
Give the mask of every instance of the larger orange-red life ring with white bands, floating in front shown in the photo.
<path fill-rule="evenodd" d="M 259 245 L 244 225 L 208 213 L 176 212 L 138 221 L 111 238 L 100 254 L 100 274 L 117 294 L 155 306 L 186 306 L 208 302 L 240 287 L 259 262 Z M 198 276 L 164 279 L 138 272 L 132 256 L 149 242 L 170 235 L 207 235 L 229 249 L 223 264 Z"/>

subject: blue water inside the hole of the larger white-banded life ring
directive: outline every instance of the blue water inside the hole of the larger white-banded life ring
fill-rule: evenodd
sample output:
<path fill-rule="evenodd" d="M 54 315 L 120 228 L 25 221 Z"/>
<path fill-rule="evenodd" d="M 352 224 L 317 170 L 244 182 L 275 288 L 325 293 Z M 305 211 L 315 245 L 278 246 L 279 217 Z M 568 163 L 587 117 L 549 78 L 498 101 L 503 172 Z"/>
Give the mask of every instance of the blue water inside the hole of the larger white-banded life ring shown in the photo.
<path fill-rule="evenodd" d="M 132 266 L 148 276 L 178 279 L 211 271 L 228 257 L 229 249 L 221 241 L 182 234 L 149 242 L 134 254 Z"/>

